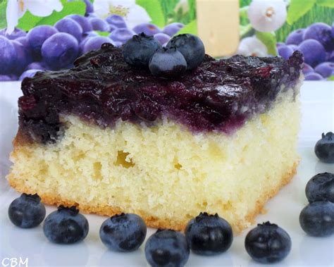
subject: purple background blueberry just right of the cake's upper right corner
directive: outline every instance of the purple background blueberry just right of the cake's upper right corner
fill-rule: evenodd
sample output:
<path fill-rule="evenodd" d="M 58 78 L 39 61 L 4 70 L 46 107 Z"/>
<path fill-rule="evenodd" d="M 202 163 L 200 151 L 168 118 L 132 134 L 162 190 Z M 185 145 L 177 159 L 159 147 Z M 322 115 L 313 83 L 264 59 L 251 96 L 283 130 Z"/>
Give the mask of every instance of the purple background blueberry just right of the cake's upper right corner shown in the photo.
<path fill-rule="evenodd" d="M 307 39 L 298 46 L 298 50 L 304 54 L 304 61 L 314 67 L 325 61 L 326 51 L 323 45 L 314 39 Z"/>

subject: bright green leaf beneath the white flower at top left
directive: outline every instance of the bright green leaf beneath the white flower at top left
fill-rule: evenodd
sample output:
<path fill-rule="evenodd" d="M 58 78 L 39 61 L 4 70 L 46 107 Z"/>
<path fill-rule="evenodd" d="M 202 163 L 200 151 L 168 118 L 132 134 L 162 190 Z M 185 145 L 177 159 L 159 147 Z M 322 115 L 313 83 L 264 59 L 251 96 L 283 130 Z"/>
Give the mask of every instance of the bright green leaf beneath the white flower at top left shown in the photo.
<path fill-rule="evenodd" d="M 66 15 L 85 15 L 86 4 L 83 1 L 68 2 L 67 0 L 61 0 L 61 4 L 63 4 L 63 9 L 61 11 L 54 11 L 51 15 L 47 17 L 38 17 L 36 15 L 32 15 L 32 13 L 30 13 L 29 11 L 25 12 L 23 17 L 18 20 L 17 27 L 22 30 L 29 31 L 33 27 L 38 25 L 54 25 L 58 20 L 66 17 Z"/>

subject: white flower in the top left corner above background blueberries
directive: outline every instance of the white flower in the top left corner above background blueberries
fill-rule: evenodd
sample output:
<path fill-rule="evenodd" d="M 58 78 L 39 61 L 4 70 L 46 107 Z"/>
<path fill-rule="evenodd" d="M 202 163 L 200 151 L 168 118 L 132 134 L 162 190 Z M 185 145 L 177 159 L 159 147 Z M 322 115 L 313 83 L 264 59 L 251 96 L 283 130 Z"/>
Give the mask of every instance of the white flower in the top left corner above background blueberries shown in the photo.
<path fill-rule="evenodd" d="M 55 11 L 61 11 L 63 5 L 60 0 L 8 0 L 6 9 L 7 33 L 10 35 L 18 25 L 19 18 L 22 18 L 25 11 L 32 15 L 47 17 Z"/>

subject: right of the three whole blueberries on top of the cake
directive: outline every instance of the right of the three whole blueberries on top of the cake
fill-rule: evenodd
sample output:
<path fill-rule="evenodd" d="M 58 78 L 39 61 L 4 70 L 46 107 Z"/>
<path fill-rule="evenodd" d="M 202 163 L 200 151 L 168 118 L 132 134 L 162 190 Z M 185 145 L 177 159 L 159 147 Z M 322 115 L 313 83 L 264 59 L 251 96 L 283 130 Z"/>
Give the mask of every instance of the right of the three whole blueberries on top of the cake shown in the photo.
<path fill-rule="evenodd" d="M 175 46 L 187 61 L 187 70 L 192 70 L 202 63 L 205 56 L 204 44 L 199 37 L 185 34 L 176 35 L 167 44 L 167 48 Z"/>

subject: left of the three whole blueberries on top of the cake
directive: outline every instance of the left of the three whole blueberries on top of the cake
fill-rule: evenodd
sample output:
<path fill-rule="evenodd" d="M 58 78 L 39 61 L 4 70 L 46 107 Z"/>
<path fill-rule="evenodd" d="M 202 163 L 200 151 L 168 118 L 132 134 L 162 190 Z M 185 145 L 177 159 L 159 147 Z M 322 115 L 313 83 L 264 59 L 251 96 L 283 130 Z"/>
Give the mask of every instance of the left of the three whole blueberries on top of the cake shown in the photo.
<path fill-rule="evenodd" d="M 153 54 L 161 47 L 154 37 L 144 33 L 134 35 L 122 48 L 123 58 L 131 66 L 147 67 Z"/>

